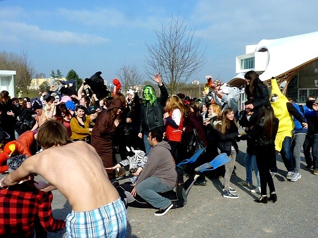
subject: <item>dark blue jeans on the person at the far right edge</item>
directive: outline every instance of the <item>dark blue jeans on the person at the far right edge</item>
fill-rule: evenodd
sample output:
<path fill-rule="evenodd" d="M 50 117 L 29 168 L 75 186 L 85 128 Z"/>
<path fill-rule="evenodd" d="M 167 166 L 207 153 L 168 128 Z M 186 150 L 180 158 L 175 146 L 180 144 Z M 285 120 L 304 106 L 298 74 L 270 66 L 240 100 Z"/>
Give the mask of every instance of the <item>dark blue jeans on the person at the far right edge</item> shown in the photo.
<path fill-rule="evenodd" d="M 312 148 L 313 161 L 310 158 L 310 148 Z M 313 165 L 314 169 L 318 169 L 318 134 L 306 135 L 304 142 L 304 155 L 306 164 Z"/>

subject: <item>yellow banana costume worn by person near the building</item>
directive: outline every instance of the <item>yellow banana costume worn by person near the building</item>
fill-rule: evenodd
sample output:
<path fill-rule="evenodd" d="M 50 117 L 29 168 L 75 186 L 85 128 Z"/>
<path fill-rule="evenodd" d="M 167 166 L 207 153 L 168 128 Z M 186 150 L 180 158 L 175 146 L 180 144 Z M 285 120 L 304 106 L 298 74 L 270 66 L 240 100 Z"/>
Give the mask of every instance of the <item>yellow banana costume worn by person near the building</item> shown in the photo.
<path fill-rule="evenodd" d="M 282 150 L 283 140 L 286 136 L 292 137 L 294 129 L 293 117 L 287 110 L 288 99 L 281 93 L 275 78 L 272 78 L 272 92 L 269 99 L 274 109 L 275 117 L 279 119 L 278 131 L 275 139 L 275 149 Z"/>

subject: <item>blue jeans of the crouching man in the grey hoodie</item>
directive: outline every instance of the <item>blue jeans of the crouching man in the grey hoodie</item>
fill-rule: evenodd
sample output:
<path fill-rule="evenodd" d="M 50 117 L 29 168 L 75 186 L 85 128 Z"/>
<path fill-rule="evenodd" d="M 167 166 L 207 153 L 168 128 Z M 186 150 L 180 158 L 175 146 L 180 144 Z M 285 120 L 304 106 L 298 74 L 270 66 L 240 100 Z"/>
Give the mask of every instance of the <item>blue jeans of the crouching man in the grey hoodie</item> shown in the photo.
<path fill-rule="evenodd" d="M 170 206 L 171 201 L 159 195 L 158 192 L 167 192 L 172 189 L 173 187 L 169 187 L 161 179 L 154 176 L 143 180 L 136 186 L 137 194 L 153 207 L 159 209 L 166 209 Z"/>

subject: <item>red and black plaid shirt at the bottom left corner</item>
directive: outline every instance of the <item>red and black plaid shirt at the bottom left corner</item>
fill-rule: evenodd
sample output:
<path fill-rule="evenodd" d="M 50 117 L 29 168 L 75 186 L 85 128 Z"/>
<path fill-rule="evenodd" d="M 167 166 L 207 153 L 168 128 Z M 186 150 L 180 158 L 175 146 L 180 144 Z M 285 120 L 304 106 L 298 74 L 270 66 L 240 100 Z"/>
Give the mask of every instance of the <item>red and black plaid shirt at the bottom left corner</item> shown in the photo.
<path fill-rule="evenodd" d="M 52 215 L 52 192 L 38 190 L 33 182 L 0 188 L 0 238 L 33 238 L 36 221 L 48 232 L 64 229 L 65 222 Z"/>

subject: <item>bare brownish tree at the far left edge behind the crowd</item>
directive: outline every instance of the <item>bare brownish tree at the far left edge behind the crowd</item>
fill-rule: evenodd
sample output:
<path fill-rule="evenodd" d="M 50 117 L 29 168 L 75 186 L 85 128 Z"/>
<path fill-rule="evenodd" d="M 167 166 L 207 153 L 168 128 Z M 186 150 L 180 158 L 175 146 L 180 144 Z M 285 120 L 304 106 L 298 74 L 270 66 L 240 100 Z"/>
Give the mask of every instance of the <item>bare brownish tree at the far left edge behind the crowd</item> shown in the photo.
<path fill-rule="evenodd" d="M 0 53 L 0 69 L 16 71 L 16 86 L 28 94 L 32 77 L 35 75 L 35 66 L 32 60 L 28 59 L 28 54 L 22 51 L 20 55 Z"/>

